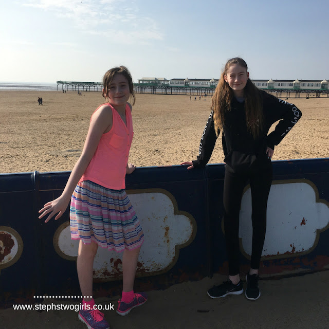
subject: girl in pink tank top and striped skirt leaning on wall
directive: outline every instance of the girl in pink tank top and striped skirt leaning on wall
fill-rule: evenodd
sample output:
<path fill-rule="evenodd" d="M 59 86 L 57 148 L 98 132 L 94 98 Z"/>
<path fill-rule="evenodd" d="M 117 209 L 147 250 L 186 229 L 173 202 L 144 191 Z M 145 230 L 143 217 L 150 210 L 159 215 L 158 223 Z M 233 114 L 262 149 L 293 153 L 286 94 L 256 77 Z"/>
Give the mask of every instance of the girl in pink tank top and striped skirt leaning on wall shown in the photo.
<path fill-rule="evenodd" d="M 70 200 L 71 239 L 79 241 L 78 277 L 83 309 L 79 319 L 90 329 L 109 328 L 104 314 L 93 299 L 93 263 L 98 247 L 123 251 L 123 291 L 117 313 L 127 315 L 144 304 L 144 293 L 134 293 L 133 286 L 144 234 L 132 204 L 125 192 L 125 175 L 135 166 L 127 163 L 133 139 L 132 96 L 134 84 L 125 66 L 109 69 L 103 78 L 103 96 L 90 119 L 82 154 L 60 197 L 39 211 L 47 223 L 65 212 Z M 133 104 L 134 104 L 133 103 Z"/>

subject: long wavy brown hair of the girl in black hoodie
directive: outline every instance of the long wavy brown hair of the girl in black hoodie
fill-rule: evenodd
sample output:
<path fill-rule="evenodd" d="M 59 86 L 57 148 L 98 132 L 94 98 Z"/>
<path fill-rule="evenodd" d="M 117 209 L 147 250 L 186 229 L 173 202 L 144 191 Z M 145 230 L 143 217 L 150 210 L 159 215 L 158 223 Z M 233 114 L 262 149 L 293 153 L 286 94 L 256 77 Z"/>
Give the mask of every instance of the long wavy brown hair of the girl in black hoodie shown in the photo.
<path fill-rule="evenodd" d="M 234 96 L 232 88 L 224 79 L 224 76 L 227 75 L 227 70 L 232 64 L 239 64 L 248 71 L 247 63 L 239 57 L 232 58 L 225 64 L 220 81 L 218 81 L 214 96 L 212 97 L 211 105 L 217 136 L 218 130 L 223 128 L 225 112 L 231 110 L 231 101 Z M 247 80 L 247 84 L 244 87 L 244 97 L 247 129 L 252 134 L 252 137 L 256 139 L 259 137 L 263 127 L 263 106 L 260 90 L 250 79 Z"/>

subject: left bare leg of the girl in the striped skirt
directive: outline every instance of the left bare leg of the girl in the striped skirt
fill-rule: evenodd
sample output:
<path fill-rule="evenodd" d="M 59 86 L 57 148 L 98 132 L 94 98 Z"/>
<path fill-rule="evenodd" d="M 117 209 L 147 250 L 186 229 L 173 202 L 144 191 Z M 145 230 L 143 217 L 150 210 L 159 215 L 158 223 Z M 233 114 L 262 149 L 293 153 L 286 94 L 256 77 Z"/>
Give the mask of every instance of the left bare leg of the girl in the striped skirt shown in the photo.
<path fill-rule="evenodd" d="M 93 299 L 93 265 L 97 249 L 98 245 L 95 242 L 90 244 L 84 244 L 81 240 L 79 242 L 77 270 L 81 294 L 88 296 L 84 298 L 85 301 Z"/>

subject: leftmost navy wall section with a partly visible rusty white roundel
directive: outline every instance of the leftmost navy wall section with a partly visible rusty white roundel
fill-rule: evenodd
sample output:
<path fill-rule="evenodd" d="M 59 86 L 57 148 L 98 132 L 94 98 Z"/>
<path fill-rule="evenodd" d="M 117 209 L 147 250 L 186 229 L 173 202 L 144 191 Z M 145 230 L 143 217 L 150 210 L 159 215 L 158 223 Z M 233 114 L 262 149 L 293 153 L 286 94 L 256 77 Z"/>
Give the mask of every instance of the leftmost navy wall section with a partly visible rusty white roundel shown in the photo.
<path fill-rule="evenodd" d="M 0 175 L 0 307 L 40 288 L 33 173 Z M 28 270 L 27 270 L 28 269 Z"/>

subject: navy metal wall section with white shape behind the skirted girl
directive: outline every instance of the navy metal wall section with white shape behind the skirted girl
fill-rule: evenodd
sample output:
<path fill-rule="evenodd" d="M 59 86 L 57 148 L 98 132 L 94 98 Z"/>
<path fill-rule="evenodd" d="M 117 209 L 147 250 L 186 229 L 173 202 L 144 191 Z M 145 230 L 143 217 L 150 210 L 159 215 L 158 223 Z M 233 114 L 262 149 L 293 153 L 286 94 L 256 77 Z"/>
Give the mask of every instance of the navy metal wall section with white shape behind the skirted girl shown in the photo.
<path fill-rule="evenodd" d="M 40 174 L 40 203 L 60 195 L 68 174 L 53 173 L 58 179 L 52 189 L 51 173 Z M 61 184 L 59 184 L 61 181 Z M 184 280 L 196 280 L 209 275 L 207 258 L 207 206 L 204 171 L 194 174 L 183 167 L 138 168 L 127 176 L 126 191 L 142 224 L 145 242 L 141 248 L 136 282 L 157 289 Z M 59 221 L 42 224 L 45 238 L 45 277 L 53 277 L 47 291 L 75 291 L 78 282 L 76 258 L 78 242 L 70 240 L 68 211 Z M 198 220 L 196 220 L 198 218 Z M 197 223 L 199 221 L 199 223 Z M 197 232 L 197 234 L 196 234 Z M 193 254 L 193 258 L 190 255 Z M 99 248 L 94 262 L 95 290 L 105 294 L 99 282 L 122 279 L 122 253 Z M 152 277 L 152 281 L 148 279 Z M 62 281 L 61 281 L 62 280 Z M 145 282 L 147 284 L 145 285 Z M 104 290 L 105 289 L 105 290 Z"/>

